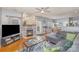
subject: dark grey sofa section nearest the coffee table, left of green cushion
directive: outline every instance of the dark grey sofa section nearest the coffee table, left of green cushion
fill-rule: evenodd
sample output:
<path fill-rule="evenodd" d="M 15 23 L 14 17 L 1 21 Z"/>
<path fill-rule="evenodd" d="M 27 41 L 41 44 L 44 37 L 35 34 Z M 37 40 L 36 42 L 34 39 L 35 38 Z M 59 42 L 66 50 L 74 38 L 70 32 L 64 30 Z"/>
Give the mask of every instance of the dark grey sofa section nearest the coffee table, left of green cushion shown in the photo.
<path fill-rule="evenodd" d="M 51 43 L 57 44 L 59 41 L 64 40 L 66 37 L 65 32 L 57 32 L 57 33 L 50 33 L 47 35 L 47 40 Z"/>

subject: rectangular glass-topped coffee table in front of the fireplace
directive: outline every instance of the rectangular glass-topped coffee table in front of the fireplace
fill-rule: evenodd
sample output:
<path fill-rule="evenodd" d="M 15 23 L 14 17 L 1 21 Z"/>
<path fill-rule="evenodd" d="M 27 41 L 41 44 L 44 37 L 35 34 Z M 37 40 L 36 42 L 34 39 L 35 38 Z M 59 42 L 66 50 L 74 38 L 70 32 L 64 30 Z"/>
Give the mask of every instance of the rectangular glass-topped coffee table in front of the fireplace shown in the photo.
<path fill-rule="evenodd" d="M 26 46 L 26 49 L 25 51 L 26 52 L 29 52 L 31 51 L 31 47 L 41 43 L 41 42 L 44 42 L 45 41 L 45 37 L 44 36 L 35 36 L 33 37 L 32 39 L 28 40 L 27 42 L 25 42 L 25 46 Z M 25 52 L 24 51 L 24 52 Z"/>

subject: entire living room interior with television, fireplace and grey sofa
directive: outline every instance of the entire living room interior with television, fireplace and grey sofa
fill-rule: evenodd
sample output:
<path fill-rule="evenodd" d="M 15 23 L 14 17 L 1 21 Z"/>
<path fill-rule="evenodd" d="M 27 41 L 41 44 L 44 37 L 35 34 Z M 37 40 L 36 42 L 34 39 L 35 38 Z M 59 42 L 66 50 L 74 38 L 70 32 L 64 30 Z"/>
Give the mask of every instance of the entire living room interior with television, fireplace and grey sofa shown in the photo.
<path fill-rule="evenodd" d="M 75 52 L 78 7 L 0 7 L 1 52 Z"/>

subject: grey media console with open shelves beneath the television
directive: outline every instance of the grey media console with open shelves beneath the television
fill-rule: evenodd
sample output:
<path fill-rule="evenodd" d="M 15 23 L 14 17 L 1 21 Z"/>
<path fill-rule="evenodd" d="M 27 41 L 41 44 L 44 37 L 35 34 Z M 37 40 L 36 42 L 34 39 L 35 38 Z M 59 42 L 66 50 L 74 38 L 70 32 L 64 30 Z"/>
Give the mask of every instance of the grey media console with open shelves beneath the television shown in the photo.
<path fill-rule="evenodd" d="M 14 43 L 17 40 L 20 40 L 20 37 L 21 37 L 20 33 L 15 34 L 15 35 L 11 35 L 11 36 L 7 36 L 7 37 L 3 37 L 1 39 L 1 47 L 5 47 L 7 45 Z"/>

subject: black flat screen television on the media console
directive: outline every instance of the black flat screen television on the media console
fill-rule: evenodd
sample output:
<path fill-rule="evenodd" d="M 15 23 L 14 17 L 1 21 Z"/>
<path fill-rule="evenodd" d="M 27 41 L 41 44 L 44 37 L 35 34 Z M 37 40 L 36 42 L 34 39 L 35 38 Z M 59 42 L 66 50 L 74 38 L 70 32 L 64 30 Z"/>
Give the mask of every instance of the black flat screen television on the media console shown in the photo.
<path fill-rule="evenodd" d="M 2 37 L 20 33 L 19 25 L 2 25 Z"/>

